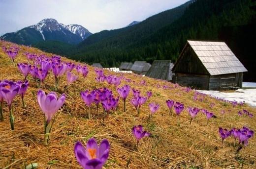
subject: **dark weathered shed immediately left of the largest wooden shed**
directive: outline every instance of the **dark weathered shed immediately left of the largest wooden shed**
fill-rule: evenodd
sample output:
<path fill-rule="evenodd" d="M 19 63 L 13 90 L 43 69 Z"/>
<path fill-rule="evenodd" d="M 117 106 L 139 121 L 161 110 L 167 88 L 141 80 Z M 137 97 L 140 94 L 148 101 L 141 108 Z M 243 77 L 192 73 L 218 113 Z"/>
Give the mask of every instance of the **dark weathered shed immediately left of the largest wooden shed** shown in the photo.
<path fill-rule="evenodd" d="M 146 76 L 171 81 L 173 63 L 171 60 L 154 60 Z"/>

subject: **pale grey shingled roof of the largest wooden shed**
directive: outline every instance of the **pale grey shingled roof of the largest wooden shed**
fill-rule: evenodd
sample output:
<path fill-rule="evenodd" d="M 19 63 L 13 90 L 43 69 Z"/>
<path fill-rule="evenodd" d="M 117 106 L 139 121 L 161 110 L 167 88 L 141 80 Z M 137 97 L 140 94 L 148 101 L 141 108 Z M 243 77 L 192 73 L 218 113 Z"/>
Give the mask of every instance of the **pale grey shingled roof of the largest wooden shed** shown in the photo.
<path fill-rule="evenodd" d="M 224 42 L 188 41 L 210 75 L 247 72 Z"/>

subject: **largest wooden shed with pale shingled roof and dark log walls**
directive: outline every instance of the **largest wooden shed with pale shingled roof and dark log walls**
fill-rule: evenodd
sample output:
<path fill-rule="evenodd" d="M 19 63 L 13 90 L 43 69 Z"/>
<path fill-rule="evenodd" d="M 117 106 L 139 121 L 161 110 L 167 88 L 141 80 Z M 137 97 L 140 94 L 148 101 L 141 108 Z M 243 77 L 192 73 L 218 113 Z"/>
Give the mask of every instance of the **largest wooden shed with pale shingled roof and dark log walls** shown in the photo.
<path fill-rule="evenodd" d="M 174 82 L 201 90 L 242 87 L 242 63 L 224 42 L 188 41 L 172 68 Z"/>

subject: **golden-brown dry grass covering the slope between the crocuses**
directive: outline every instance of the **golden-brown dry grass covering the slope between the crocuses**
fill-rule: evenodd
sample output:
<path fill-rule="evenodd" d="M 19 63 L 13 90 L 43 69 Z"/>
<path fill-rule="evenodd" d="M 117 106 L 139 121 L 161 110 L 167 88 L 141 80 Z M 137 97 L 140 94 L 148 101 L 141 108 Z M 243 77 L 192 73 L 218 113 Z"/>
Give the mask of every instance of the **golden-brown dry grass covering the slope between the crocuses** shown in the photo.
<path fill-rule="evenodd" d="M 0 46 L 5 42 L 0 42 Z M 17 62 L 26 62 L 26 57 L 22 54 L 25 51 L 32 53 L 44 53 L 35 48 L 20 46 L 21 51 L 16 59 Z M 44 53 L 51 55 L 49 53 Z M 64 61 L 70 61 L 63 58 Z M 218 127 L 225 128 L 242 127 L 244 125 L 256 130 L 255 118 L 238 117 L 237 112 L 243 108 L 255 113 L 256 109 L 245 105 L 244 107 L 232 108 L 230 103 L 224 103 L 211 97 L 204 100 L 194 101 L 192 99 L 194 91 L 185 92 L 182 87 L 174 87 L 174 84 L 160 81 L 148 77 L 141 77 L 135 74 L 124 74 L 126 78 L 132 79 L 129 85 L 132 88 L 141 90 L 142 95 L 146 95 L 148 90 L 153 92 L 150 98 L 141 108 L 138 116 L 127 102 L 127 112 L 122 112 L 123 101 L 119 103 L 117 111 L 113 112 L 108 119 L 102 121 L 102 109 L 96 113 L 93 110 L 92 120 L 86 119 L 87 108 L 80 98 L 80 91 L 108 87 L 115 96 L 117 92 L 114 86 L 106 82 L 98 84 L 95 81 L 94 68 L 88 66 L 89 74 L 84 79 L 79 77 L 66 91 L 66 101 L 62 111 L 59 111 L 55 118 L 56 122 L 50 138 L 50 145 L 43 145 L 43 114 L 37 104 L 37 88 L 29 76 L 30 87 L 25 96 L 27 108 L 21 107 L 20 97 L 16 97 L 13 102 L 15 111 L 15 130 L 10 130 L 8 110 L 4 106 L 4 121 L 0 122 L 0 168 L 1 169 L 24 169 L 25 164 L 36 162 L 39 169 L 79 169 L 73 147 L 76 141 L 86 143 L 95 137 L 98 141 L 107 138 L 111 143 L 109 159 L 104 166 L 106 169 L 243 169 L 256 168 L 256 137 L 249 141 L 249 145 L 239 153 L 235 153 L 232 146 L 233 138 L 224 141 L 222 147 L 218 133 Z M 114 72 L 104 71 L 105 74 Z M 123 75 L 118 74 L 117 75 Z M 10 61 L 0 51 L 0 80 L 20 80 L 23 75 L 17 67 L 10 65 Z M 141 80 L 146 81 L 146 85 L 141 85 Z M 61 80 L 60 88 L 63 89 L 65 77 Z M 127 82 L 122 81 L 121 85 Z M 160 87 L 158 87 L 158 84 Z M 169 88 L 163 89 L 166 85 Z M 44 91 L 54 89 L 53 74 L 50 73 L 42 87 Z M 62 91 L 58 92 L 59 94 Z M 131 97 L 129 95 L 128 99 Z M 196 106 L 209 109 L 218 118 L 211 119 L 206 125 L 206 118 L 198 115 L 197 121 L 189 124 L 188 112 L 184 110 L 181 114 L 181 126 L 177 127 L 177 118 L 170 117 L 165 100 L 174 99 L 185 104 L 185 106 Z M 152 120 L 148 120 L 149 107 L 152 101 L 160 104 L 158 111 Z M 211 109 L 210 103 L 215 106 Z M 231 110 L 222 118 L 220 111 Z M 131 134 L 133 125 L 142 124 L 152 135 L 144 138 L 138 148 L 135 139 Z M 129 160 L 130 159 L 130 160 Z M 129 161 L 129 163 L 128 163 Z M 127 167 L 128 166 L 128 167 Z"/>

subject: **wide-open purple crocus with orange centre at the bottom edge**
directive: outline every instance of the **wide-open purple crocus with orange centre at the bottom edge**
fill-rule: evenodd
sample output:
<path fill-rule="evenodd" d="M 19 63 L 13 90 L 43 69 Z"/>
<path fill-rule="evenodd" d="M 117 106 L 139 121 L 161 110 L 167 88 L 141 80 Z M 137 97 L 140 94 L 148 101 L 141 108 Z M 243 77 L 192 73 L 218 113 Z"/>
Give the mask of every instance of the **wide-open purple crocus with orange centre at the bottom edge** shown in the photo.
<path fill-rule="evenodd" d="M 75 156 L 83 169 L 102 169 L 102 166 L 108 159 L 110 145 L 106 139 L 103 139 L 100 145 L 94 138 L 88 140 L 86 149 L 77 142 L 75 144 Z"/>

